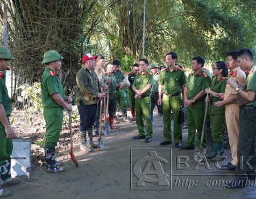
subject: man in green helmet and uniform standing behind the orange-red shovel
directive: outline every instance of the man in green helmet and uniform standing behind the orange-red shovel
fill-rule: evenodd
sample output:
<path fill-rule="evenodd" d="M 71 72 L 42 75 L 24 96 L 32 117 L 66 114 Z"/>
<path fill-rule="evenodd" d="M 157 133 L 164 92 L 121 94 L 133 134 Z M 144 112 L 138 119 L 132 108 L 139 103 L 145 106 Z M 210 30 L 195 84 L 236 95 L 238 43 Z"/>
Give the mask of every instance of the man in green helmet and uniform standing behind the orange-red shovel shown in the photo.
<path fill-rule="evenodd" d="M 65 97 L 57 71 L 61 67 L 62 56 L 57 51 L 48 51 L 44 54 L 42 64 L 46 64 L 41 79 L 42 103 L 44 106 L 44 120 L 46 121 L 46 142 L 44 152 L 46 157 L 47 172 L 63 172 L 64 168 L 59 167 L 61 162 L 55 160 L 55 147 L 60 137 L 63 122 L 64 108 L 72 111 L 72 98 Z M 68 103 L 66 103 L 67 101 Z"/>

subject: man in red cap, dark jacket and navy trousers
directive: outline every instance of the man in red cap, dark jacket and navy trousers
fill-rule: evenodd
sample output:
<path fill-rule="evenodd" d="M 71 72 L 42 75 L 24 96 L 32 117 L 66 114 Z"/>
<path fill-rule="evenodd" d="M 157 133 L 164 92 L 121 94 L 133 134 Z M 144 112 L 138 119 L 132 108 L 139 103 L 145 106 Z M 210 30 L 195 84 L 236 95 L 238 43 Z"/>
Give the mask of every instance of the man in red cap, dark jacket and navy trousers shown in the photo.
<path fill-rule="evenodd" d="M 94 72 L 95 59 L 97 59 L 97 56 L 92 56 L 90 53 L 84 55 L 82 57 L 82 68 L 76 74 L 76 105 L 80 115 L 80 150 L 86 152 L 92 151 L 86 144 L 86 131 L 89 137 L 89 146 L 98 148 L 98 145 L 93 143 L 92 127 L 96 119 L 97 101 L 104 98 L 98 76 Z"/>

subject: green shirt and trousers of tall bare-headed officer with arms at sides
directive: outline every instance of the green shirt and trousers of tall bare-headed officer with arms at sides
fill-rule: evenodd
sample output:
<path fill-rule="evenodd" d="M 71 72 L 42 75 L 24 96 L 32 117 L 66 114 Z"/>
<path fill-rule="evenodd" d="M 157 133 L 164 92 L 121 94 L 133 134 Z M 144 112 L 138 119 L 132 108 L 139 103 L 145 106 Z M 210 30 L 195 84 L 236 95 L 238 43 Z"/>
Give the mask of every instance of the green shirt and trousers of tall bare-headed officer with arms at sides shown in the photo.
<path fill-rule="evenodd" d="M 179 110 L 181 107 L 182 85 L 186 84 L 185 73 L 178 67 L 174 67 L 174 71 L 169 68 L 160 73 L 158 84 L 163 85 L 163 122 L 164 122 L 164 140 L 169 142 L 171 136 L 171 111 L 174 118 L 174 142 L 181 142 L 182 127 L 179 123 Z M 168 95 L 174 95 L 169 97 Z"/>

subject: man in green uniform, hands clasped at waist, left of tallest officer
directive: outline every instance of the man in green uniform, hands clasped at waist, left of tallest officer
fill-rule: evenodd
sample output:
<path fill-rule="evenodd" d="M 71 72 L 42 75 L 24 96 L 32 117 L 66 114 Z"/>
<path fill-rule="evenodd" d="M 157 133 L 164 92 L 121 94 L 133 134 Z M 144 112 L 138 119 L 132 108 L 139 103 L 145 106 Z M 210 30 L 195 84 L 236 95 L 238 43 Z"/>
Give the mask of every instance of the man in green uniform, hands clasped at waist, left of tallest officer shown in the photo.
<path fill-rule="evenodd" d="M 150 99 L 153 78 L 152 73 L 147 71 L 147 66 L 147 59 L 143 58 L 139 60 L 139 71 L 141 72 L 136 75 L 133 83 L 133 90 L 136 93 L 134 96 L 137 114 L 136 125 L 139 132 L 139 135 L 133 137 L 133 139 L 145 139 L 145 142 L 149 143 L 153 136 Z M 144 122 L 146 132 L 144 131 Z"/>

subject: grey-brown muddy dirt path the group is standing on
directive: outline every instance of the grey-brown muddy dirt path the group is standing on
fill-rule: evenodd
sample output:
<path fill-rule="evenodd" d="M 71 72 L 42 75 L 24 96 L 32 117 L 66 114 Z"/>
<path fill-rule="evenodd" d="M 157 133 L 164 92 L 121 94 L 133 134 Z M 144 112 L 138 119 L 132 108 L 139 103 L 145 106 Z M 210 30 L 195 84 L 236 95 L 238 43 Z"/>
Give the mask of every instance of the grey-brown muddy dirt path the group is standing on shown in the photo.
<path fill-rule="evenodd" d="M 90 153 L 79 151 L 78 123 L 73 123 L 74 154 L 79 167 L 73 164 L 68 154 L 70 137 L 67 128 L 61 132 L 56 158 L 64 162 L 63 173 L 46 173 L 43 148 L 32 144 L 31 179 L 20 180 L 19 184 L 5 188 L 12 192 L 8 198 L 255 198 L 254 186 L 236 190 L 224 189 L 225 182 L 234 178 L 233 171 L 217 169 L 212 161 L 209 161 L 209 166 L 206 163 L 196 165 L 193 160 L 194 151 L 180 150 L 174 146 L 174 142 L 160 146 L 159 143 L 163 141 L 163 127 L 160 127 L 162 118 L 158 117 L 156 110 L 154 115 L 154 137 L 150 143 L 144 143 L 143 139 L 132 139 L 138 135 L 135 122 L 121 122 L 116 125 L 117 130 L 110 132 L 108 138 L 102 137 L 104 151 L 97 148 Z M 13 126 L 19 138 L 32 139 L 34 142 L 43 139 L 44 128 L 39 127 L 43 121 L 27 122 L 20 111 L 14 111 L 11 117 L 16 118 Z M 98 137 L 94 137 L 95 143 L 97 139 Z M 183 130 L 182 144 L 185 140 L 187 129 Z M 212 143 L 208 143 L 207 148 L 207 153 L 212 152 Z M 144 186 L 137 186 L 138 179 L 133 173 L 140 168 L 137 160 L 143 160 L 140 165 L 143 171 L 147 167 L 144 157 L 149 156 L 150 151 L 168 161 L 166 164 L 162 161 L 161 167 L 168 175 L 166 180 L 170 183 L 169 186 L 147 182 Z M 225 155 L 229 159 L 221 161 L 220 165 L 228 163 L 230 150 L 225 150 Z M 161 171 L 157 166 L 159 158 L 155 157 L 154 160 L 157 161 L 151 163 L 149 172 L 155 171 L 154 167 Z M 156 178 L 156 175 L 146 177 Z M 219 181 L 224 184 L 218 184 Z"/>

